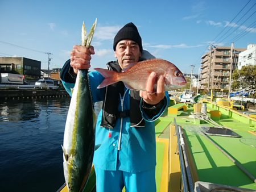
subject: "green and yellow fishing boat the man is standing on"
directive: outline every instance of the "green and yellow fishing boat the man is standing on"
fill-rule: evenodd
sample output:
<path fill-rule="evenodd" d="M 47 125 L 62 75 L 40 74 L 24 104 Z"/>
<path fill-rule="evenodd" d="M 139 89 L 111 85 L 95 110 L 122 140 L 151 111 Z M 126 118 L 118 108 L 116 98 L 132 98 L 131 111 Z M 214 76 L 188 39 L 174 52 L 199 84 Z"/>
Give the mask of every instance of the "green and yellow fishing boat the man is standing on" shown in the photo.
<path fill-rule="evenodd" d="M 255 118 L 204 101 L 173 103 L 155 124 L 157 191 L 256 191 Z"/>

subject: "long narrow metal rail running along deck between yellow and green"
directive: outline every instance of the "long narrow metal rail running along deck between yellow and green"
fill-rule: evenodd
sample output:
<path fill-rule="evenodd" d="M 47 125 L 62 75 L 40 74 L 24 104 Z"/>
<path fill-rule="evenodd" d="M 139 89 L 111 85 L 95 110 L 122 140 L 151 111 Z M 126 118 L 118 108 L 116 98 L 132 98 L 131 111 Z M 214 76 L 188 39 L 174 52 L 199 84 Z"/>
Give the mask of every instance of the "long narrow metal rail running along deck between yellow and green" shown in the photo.
<path fill-rule="evenodd" d="M 184 192 L 194 192 L 194 182 L 191 174 L 191 169 L 188 162 L 188 156 L 185 151 L 184 138 L 182 136 L 181 127 L 177 125 L 176 118 L 174 118 L 177 146 L 179 152 L 180 169 L 181 169 L 181 181 L 183 183 Z"/>

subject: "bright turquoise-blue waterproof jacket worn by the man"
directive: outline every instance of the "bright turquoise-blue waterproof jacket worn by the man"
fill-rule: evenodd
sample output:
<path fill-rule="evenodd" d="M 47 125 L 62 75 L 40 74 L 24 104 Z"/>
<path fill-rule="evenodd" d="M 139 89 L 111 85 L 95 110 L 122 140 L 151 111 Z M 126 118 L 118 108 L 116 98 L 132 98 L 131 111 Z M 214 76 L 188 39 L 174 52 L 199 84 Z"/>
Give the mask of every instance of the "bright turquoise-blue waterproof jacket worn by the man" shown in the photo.
<path fill-rule="evenodd" d="M 104 100 L 105 88 L 97 89 L 97 86 L 100 85 L 103 80 L 104 77 L 102 77 L 100 73 L 89 73 L 93 102 Z M 75 84 L 63 80 L 62 82 L 69 95 L 71 95 L 71 88 L 73 88 Z M 119 98 L 119 111 L 129 110 L 129 94 L 130 90 L 126 89 L 123 97 Z M 140 106 L 142 117 L 146 120 L 145 127 L 142 128 L 130 127 L 129 117 L 118 118 L 113 129 L 100 127 L 102 117 L 101 110 L 98 114 L 96 124 L 96 145 L 100 144 L 100 148 L 94 153 L 94 166 L 104 170 L 119 169 L 131 173 L 155 169 L 156 141 L 154 121 L 163 114 L 168 103 L 169 97 L 168 93 L 166 93 L 163 107 L 160 109 L 159 114 L 153 118 L 149 118 L 142 106 Z M 111 137 L 109 137 L 109 133 L 111 133 Z"/>

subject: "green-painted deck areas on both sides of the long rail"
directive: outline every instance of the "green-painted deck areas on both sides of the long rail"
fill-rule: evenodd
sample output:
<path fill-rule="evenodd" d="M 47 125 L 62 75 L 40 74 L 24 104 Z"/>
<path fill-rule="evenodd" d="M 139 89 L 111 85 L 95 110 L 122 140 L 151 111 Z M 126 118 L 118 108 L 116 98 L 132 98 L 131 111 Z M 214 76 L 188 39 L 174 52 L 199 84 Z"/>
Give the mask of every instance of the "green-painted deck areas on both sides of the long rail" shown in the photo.
<path fill-rule="evenodd" d="M 181 104 L 183 105 L 183 104 Z M 208 106 L 207 106 L 208 107 Z M 232 114 L 225 109 L 209 108 L 210 110 L 221 110 L 221 120 L 218 124 L 232 128 L 242 137 L 209 136 L 222 150 L 228 153 L 239 164 L 243 166 L 253 177 L 256 177 L 256 135 L 249 131 L 255 131 L 253 120 L 248 120 L 239 114 Z M 196 175 L 199 181 L 242 187 L 256 190 L 256 183 L 242 172 L 240 168 L 220 151 L 203 133 L 199 126 L 210 127 L 210 124 L 199 124 L 199 121 L 188 118 L 192 107 L 187 108 L 180 116 L 175 117 L 177 124 L 184 130 L 184 137 L 188 145 L 188 153 L 191 154 L 191 162 L 195 165 Z M 209 114 L 208 114 L 209 116 Z M 163 116 L 156 122 L 156 137 L 167 138 L 170 134 L 170 124 L 173 124 L 174 116 Z M 195 123 L 194 123 L 195 122 Z M 245 144 L 246 140 L 249 140 Z M 249 145 L 250 144 L 250 145 Z M 251 146 L 252 145 L 252 146 Z M 163 170 L 164 143 L 156 144 L 156 185 L 160 189 Z"/>

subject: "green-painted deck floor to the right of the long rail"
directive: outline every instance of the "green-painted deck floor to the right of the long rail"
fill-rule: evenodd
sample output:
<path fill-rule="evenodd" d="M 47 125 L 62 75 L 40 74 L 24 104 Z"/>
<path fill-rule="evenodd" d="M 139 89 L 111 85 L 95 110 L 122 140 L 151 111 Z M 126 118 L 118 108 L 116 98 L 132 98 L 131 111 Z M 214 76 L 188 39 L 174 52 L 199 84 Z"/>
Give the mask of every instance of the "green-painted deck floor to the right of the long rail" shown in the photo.
<path fill-rule="evenodd" d="M 199 126 L 191 123 L 193 120 L 185 116 L 176 118 L 176 120 L 177 124 L 185 130 L 185 137 L 192 153 L 192 161 L 195 162 L 200 181 L 256 190 L 256 183 L 246 176 L 220 149 L 214 146 L 201 133 Z M 228 118 L 221 119 L 218 123 L 232 128 L 233 131 L 242 136 L 241 138 L 225 136 L 210 136 L 210 138 L 256 177 L 256 147 L 241 142 L 241 140 L 246 139 L 255 142 L 256 136 L 248 132 L 251 129 L 249 123 L 246 124 L 239 120 Z M 209 125 L 201 124 L 200 126 Z"/>

